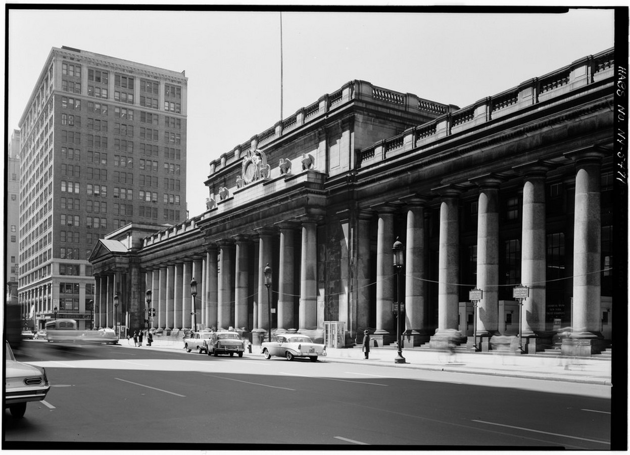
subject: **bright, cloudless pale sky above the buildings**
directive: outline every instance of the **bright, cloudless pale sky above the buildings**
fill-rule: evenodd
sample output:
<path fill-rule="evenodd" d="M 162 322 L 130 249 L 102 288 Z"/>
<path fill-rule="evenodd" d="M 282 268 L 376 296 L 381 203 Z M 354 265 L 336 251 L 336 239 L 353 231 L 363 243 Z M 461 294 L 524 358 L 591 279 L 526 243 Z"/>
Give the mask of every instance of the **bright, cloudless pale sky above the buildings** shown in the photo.
<path fill-rule="evenodd" d="M 210 161 L 280 120 L 278 11 L 32 8 L 8 14 L 9 134 L 18 128 L 52 47 L 185 70 L 190 217 L 205 211 Z M 284 118 L 354 79 L 466 107 L 614 45 L 610 9 L 488 14 L 306 8 L 282 13 Z"/>

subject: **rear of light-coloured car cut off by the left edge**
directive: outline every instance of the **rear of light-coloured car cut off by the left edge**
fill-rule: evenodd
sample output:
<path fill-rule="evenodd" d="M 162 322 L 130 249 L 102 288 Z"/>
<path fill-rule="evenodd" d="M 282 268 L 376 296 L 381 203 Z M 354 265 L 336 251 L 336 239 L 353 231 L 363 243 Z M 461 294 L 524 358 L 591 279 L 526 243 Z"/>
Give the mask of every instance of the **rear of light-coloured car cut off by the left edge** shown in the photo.
<path fill-rule="evenodd" d="M 4 379 L 4 408 L 13 417 L 23 417 L 28 401 L 42 401 L 50 389 L 45 369 L 18 362 L 9 342 L 5 342 L 6 377 Z"/>

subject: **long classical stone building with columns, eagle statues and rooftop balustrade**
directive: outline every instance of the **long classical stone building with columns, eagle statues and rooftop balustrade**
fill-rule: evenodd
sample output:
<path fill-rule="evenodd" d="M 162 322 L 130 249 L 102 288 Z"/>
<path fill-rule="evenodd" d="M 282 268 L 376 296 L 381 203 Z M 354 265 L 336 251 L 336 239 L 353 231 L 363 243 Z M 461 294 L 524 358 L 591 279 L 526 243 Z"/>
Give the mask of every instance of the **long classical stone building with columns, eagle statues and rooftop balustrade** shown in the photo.
<path fill-rule="evenodd" d="M 112 324 L 118 291 L 135 327 L 233 326 L 259 342 L 271 324 L 335 347 L 367 329 L 389 345 L 400 301 L 407 347 L 458 330 L 489 350 L 520 332 L 534 353 L 571 327 L 563 350 L 598 353 L 611 338 L 613 98 L 612 49 L 464 108 L 351 81 L 212 161 L 203 214 L 101 239 L 96 325 Z"/>

